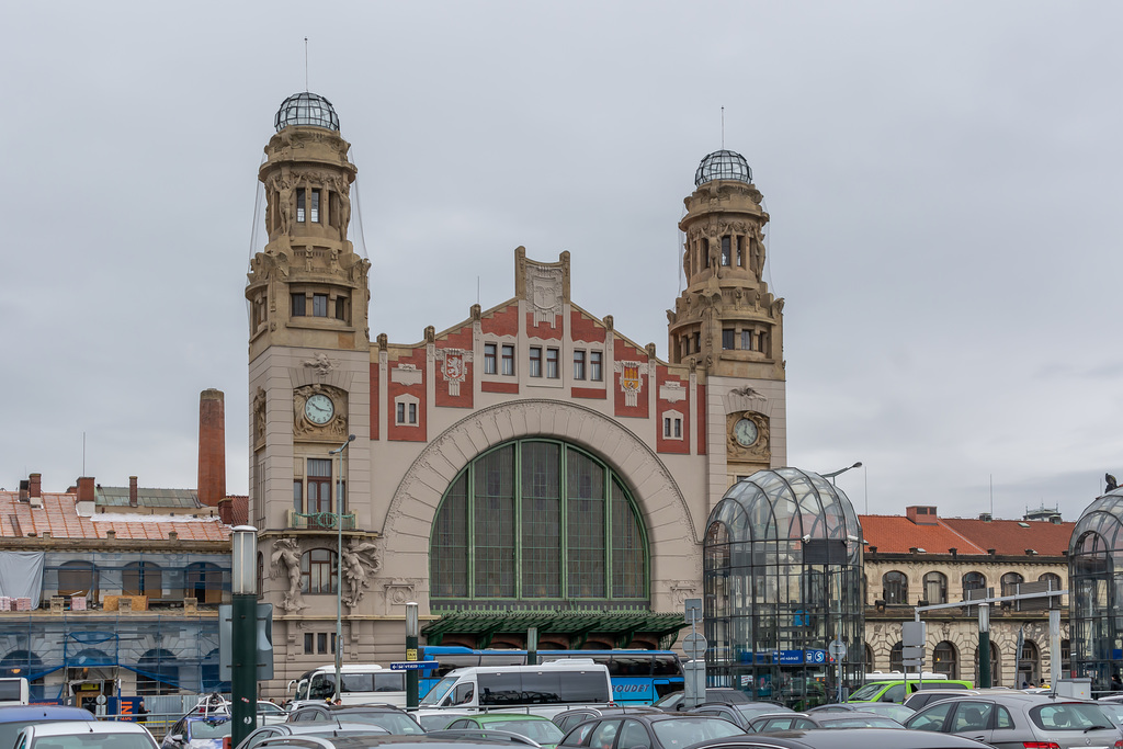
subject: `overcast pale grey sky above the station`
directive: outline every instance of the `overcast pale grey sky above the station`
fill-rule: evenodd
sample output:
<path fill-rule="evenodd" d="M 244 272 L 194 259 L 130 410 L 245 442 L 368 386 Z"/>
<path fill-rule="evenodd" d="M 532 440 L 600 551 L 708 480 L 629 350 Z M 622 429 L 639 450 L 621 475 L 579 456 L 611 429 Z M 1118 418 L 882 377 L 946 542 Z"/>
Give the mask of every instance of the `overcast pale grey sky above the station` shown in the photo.
<path fill-rule="evenodd" d="M 75 1 L 4 28 L 0 486 L 193 487 L 218 387 L 247 491 L 256 171 L 304 37 L 372 335 L 511 296 L 524 245 L 665 357 L 724 108 L 772 214 L 792 465 L 861 460 L 859 511 L 946 515 L 1075 519 L 1123 475 L 1119 3 Z"/>

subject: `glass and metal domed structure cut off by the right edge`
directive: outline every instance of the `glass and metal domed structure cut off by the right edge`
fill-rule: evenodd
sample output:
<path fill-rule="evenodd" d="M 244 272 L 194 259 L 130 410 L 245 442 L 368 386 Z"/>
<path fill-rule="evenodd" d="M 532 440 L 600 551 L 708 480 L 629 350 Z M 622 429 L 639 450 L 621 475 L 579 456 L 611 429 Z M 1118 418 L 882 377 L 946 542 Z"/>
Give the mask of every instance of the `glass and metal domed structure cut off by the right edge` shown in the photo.
<path fill-rule="evenodd" d="M 1085 508 L 1068 546 L 1072 669 L 1110 689 L 1123 670 L 1123 488 Z"/>

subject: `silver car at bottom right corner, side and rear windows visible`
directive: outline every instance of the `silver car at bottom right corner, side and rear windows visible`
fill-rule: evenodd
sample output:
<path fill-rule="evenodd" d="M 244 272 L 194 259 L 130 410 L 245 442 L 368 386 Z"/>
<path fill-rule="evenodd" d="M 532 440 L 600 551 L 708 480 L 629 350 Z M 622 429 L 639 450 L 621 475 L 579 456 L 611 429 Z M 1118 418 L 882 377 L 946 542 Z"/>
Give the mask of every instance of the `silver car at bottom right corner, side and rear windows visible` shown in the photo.
<path fill-rule="evenodd" d="M 905 728 L 955 733 L 997 749 L 1123 749 L 1123 733 L 1095 702 L 1021 692 L 943 700 L 906 720 Z"/>

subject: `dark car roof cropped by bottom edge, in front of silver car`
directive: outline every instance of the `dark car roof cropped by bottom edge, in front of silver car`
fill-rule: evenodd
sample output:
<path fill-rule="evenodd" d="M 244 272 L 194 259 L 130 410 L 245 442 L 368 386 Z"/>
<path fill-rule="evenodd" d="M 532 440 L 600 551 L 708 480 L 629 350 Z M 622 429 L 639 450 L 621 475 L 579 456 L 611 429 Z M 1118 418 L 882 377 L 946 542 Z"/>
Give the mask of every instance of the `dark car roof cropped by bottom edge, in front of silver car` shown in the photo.
<path fill-rule="evenodd" d="M 848 731 L 815 729 L 786 733 L 748 733 L 703 741 L 691 749 L 986 749 L 958 736 L 922 733 L 892 728 Z"/>

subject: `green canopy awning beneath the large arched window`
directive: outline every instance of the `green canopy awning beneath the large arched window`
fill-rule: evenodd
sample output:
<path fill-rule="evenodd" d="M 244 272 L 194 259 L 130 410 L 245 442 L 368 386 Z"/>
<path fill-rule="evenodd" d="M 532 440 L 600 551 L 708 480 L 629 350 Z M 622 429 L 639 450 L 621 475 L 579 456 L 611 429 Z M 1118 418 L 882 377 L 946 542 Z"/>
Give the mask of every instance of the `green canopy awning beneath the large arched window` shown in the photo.
<path fill-rule="evenodd" d="M 477 647 L 485 648 L 499 633 L 526 634 L 530 627 L 539 633 L 566 634 L 582 640 L 592 632 L 611 636 L 626 647 L 636 634 L 657 637 L 669 648 L 686 627 L 682 613 L 655 613 L 636 610 L 544 610 L 544 609 L 477 609 L 468 611 L 433 611 L 440 619 L 422 628 L 429 645 L 440 645 L 446 634 L 475 634 Z"/>

